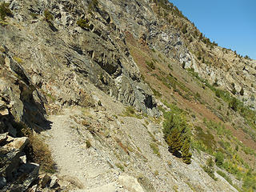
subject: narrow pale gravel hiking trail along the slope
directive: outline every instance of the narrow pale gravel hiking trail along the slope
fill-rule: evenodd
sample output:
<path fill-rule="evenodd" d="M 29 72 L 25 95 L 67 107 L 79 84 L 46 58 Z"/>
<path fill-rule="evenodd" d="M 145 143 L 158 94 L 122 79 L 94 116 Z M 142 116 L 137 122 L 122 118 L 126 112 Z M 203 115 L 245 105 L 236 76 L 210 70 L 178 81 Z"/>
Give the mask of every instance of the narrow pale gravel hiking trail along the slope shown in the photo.
<path fill-rule="evenodd" d="M 51 115 L 51 129 L 44 132 L 58 174 L 72 178 L 82 189 L 79 191 L 122 191 L 116 190 L 118 183 L 115 180 L 119 173 L 110 169 L 99 150 L 87 149 L 86 140 L 78 131 L 79 125 L 72 118 L 79 115 L 82 112 L 77 109 L 65 109 L 62 114 Z"/>

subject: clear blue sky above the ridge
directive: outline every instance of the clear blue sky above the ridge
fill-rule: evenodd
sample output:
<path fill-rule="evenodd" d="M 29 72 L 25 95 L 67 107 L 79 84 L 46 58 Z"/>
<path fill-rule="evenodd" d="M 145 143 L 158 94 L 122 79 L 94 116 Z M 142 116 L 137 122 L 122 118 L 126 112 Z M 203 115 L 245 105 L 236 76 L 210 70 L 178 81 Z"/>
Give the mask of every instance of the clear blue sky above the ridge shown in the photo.
<path fill-rule="evenodd" d="M 256 0 L 170 0 L 219 46 L 256 59 Z"/>

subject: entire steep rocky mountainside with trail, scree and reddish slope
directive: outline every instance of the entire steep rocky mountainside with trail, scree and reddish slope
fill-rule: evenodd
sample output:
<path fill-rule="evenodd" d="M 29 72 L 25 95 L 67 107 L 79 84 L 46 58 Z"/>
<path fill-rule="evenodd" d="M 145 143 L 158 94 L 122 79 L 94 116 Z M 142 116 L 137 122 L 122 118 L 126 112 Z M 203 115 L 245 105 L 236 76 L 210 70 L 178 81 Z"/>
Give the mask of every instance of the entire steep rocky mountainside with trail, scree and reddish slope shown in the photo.
<path fill-rule="evenodd" d="M 6 2 L 0 189 L 256 189 L 256 61 L 210 42 L 164 0 Z M 188 165 L 170 153 L 168 115 L 186 119 Z M 22 136 L 30 144 L 17 148 Z"/>

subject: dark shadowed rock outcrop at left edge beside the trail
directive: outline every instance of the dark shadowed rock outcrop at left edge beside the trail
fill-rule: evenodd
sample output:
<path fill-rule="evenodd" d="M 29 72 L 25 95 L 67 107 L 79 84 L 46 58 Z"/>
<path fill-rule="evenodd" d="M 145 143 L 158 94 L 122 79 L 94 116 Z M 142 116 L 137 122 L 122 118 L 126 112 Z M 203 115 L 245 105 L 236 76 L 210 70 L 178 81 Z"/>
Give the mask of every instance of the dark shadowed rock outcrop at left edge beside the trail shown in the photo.
<path fill-rule="evenodd" d="M 45 125 L 43 102 L 46 99 L 33 86 L 26 71 L 3 48 L 0 53 L 0 132 L 9 131 L 16 137 L 14 122 L 26 122 L 30 127 Z"/>

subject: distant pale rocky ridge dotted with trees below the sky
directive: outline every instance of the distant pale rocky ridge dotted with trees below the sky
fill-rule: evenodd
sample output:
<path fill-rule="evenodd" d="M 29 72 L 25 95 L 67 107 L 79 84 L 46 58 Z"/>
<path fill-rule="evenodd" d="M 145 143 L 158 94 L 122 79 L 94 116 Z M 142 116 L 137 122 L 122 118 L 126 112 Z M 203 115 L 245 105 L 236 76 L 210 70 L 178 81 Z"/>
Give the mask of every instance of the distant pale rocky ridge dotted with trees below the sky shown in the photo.
<path fill-rule="evenodd" d="M 234 97 L 255 109 L 254 95 L 256 94 L 255 67 L 256 62 L 251 59 L 238 57 L 231 50 L 219 46 L 209 47 L 199 38 L 198 31 L 186 18 L 174 14 L 176 8 L 169 5 L 167 10 L 161 10 L 151 1 L 101 1 L 104 8 L 110 13 L 113 21 L 121 26 L 122 30 L 129 31 L 134 38 L 141 39 L 151 49 L 166 54 L 167 58 L 185 63 L 185 68 L 192 68 L 200 77 L 213 84 L 216 79 L 218 86 L 224 90 L 233 90 Z M 163 16 L 166 13 L 167 16 Z M 178 24 L 175 24 L 177 22 Z M 189 32 L 182 33 L 186 26 Z M 194 31 L 196 35 L 194 35 Z M 190 39 L 188 41 L 188 39 Z M 198 59 L 198 55 L 202 58 Z M 239 92 L 244 90 L 244 94 Z"/>

